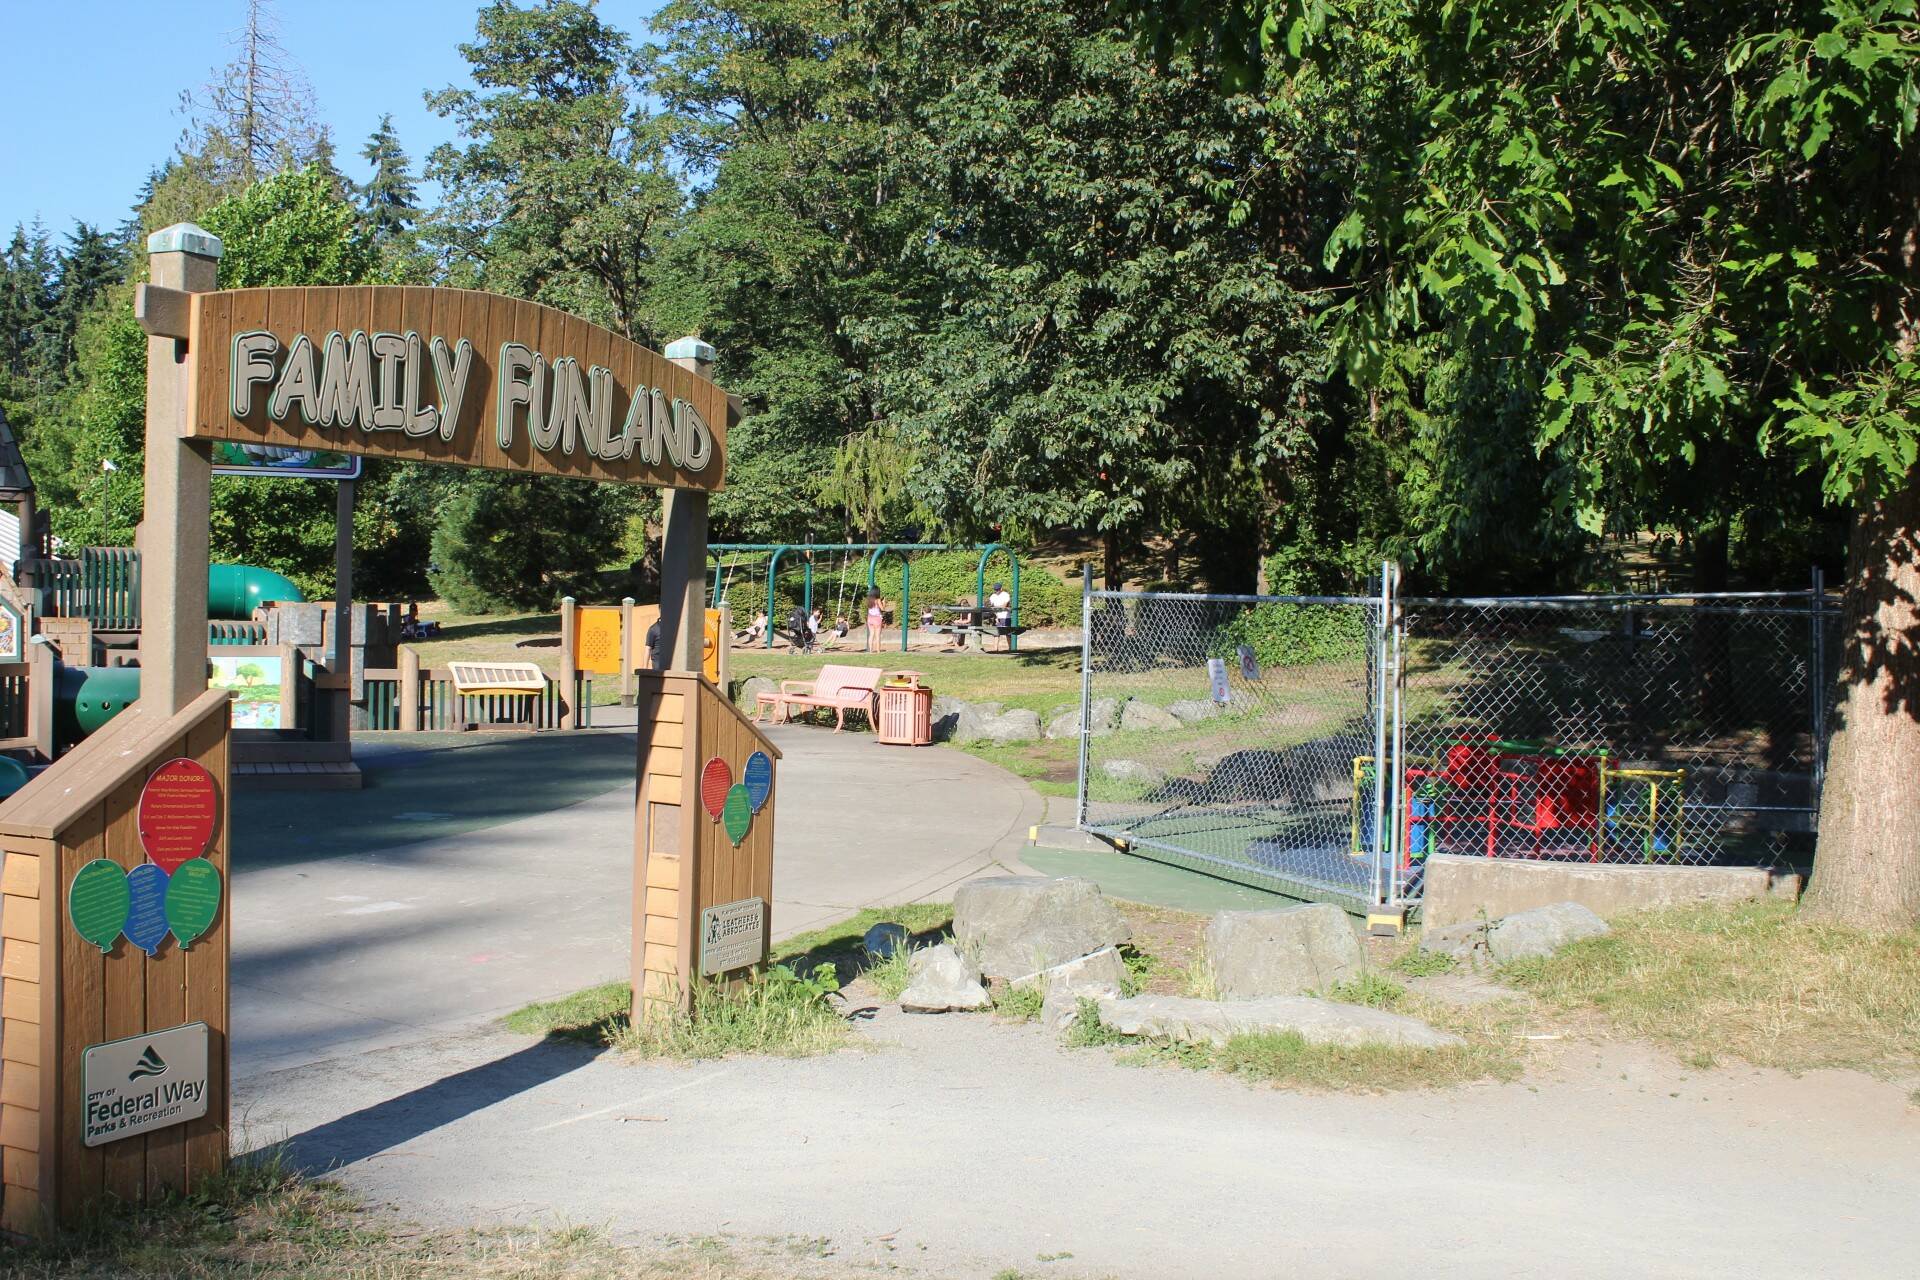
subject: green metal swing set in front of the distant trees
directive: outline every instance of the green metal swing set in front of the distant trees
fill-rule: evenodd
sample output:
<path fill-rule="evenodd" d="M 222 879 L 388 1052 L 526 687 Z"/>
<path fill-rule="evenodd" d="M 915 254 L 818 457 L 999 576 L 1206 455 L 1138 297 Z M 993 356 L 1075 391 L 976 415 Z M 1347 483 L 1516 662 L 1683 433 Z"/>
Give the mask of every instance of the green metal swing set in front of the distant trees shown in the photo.
<path fill-rule="evenodd" d="M 956 551 L 956 549 L 958 547 L 954 547 L 952 543 L 710 543 L 707 547 L 707 553 L 708 558 L 712 558 L 714 562 L 712 564 L 714 578 L 708 599 L 716 608 L 722 603 L 732 603 L 733 578 L 739 566 L 743 564 L 743 558 L 764 555 L 766 562 L 762 566 L 756 566 L 756 572 L 766 576 L 768 628 L 766 635 L 760 637 L 760 647 L 772 649 L 774 633 L 781 626 L 781 616 L 780 616 L 781 608 L 778 597 L 780 562 L 789 553 L 797 553 L 797 558 L 801 562 L 801 591 L 797 601 L 799 606 L 810 614 L 814 610 L 816 564 L 839 557 L 839 576 L 835 581 L 835 589 L 831 593 L 833 610 L 831 612 L 822 610 L 822 612 L 829 622 L 831 618 L 837 616 L 849 616 L 852 618 L 854 629 L 860 629 L 860 626 L 864 624 L 866 595 L 872 595 L 879 583 L 881 560 L 889 555 L 895 555 L 900 558 L 900 601 L 899 608 L 895 610 L 895 622 L 900 628 L 900 652 L 906 652 L 912 641 L 912 631 L 916 629 L 918 622 L 914 616 L 914 555 L 931 551 Z M 924 629 L 929 635 L 977 635 L 981 639 L 989 635 L 1000 635 L 1006 639 L 1008 652 L 1018 652 L 1020 633 L 1025 629 L 1020 626 L 1020 557 L 1014 553 L 1012 547 L 1004 543 L 983 543 L 977 547 L 966 547 L 966 551 L 979 551 L 979 564 L 975 566 L 973 572 L 973 603 L 970 606 L 964 606 L 964 610 L 960 610 L 950 603 L 941 603 L 931 608 L 933 612 L 945 612 L 945 614 L 966 612 L 972 614 L 972 622 L 960 622 L 958 618 L 948 618 L 945 622 L 935 620 L 933 626 L 920 629 Z M 849 595 L 847 591 L 849 570 L 854 564 L 856 553 L 866 557 L 864 595 Z M 1008 626 L 1004 628 L 991 626 L 985 622 L 985 618 L 991 614 L 991 606 L 987 604 L 987 564 L 989 560 L 993 560 L 995 555 L 1006 557 L 1008 564 L 1006 581 L 1008 581 L 1008 593 L 1012 595 L 1012 604 L 1008 610 Z M 749 578 L 753 574 L 749 572 Z M 831 570 L 828 572 L 828 578 L 833 580 Z M 745 616 L 747 608 L 735 608 L 733 612 L 735 616 Z"/>

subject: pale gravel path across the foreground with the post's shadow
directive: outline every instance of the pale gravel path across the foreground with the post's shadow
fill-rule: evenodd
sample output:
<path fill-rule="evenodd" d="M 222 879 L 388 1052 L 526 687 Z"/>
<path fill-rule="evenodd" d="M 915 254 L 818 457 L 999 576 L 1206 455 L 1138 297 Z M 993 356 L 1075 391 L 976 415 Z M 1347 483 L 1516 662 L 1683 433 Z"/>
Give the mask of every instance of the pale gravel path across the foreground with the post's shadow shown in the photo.
<path fill-rule="evenodd" d="M 409 1221 L 735 1238 L 768 1276 L 793 1242 L 956 1280 L 1912 1274 L 1920 1113 L 1859 1075 L 1572 1044 L 1515 1084 L 1296 1094 L 991 1015 L 858 1027 L 877 1052 L 691 1065 L 470 1032 L 240 1103 Z"/>

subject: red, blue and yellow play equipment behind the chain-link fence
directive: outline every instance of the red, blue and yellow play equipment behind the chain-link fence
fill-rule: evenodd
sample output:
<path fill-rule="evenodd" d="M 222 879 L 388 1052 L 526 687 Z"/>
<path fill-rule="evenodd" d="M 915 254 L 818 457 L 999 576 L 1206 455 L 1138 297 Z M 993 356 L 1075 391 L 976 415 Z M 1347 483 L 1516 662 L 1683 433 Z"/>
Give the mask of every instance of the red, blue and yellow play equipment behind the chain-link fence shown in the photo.
<path fill-rule="evenodd" d="M 1375 758 L 1354 756 L 1348 854 L 1373 854 Z M 1580 862 L 1682 862 L 1686 770 L 1620 768 L 1613 752 L 1461 737 L 1407 756 L 1405 804 L 1388 833 L 1404 873 L 1428 854 Z"/>

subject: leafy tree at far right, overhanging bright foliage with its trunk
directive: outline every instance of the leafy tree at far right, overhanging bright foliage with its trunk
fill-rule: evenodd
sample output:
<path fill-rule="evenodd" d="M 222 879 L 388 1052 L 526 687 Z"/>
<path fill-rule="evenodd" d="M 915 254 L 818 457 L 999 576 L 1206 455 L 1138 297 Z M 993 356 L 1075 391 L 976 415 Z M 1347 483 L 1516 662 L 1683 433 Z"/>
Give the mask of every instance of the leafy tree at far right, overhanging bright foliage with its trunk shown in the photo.
<path fill-rule="evenodd" d="M 1920 794 L 1895 764 L 1920 756 L 1912 0 L 1129 8 L 1242 83 L 1265 65 L 1275 100 L 1352 83 L 1356 44 L 1398 50 L 1419 109 L 1367 138 L 1325 246 L 1352 280 L 1331 332 L 1375 386 L 1436 338 L 1505 359 L 1513 443 L 1557 461 L 1561 507 L 1590 532 L 1703 530 L 1709 587 L 1793 468 L 1851 509 L 1809 910 L 1920 919 Z"/>

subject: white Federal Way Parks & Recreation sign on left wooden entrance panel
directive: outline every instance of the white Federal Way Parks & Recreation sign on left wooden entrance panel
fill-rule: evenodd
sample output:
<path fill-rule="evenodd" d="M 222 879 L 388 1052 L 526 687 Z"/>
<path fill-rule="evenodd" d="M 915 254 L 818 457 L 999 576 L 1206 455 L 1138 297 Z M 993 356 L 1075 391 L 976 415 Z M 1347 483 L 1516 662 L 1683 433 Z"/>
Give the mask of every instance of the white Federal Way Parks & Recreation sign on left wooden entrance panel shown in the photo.
<path fill-rule="evenodd" d="M 81 1057 L 81 1140 L 90 1146 L 207 1113 L 207 1025 L 92 1044 Z"/>

